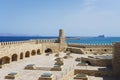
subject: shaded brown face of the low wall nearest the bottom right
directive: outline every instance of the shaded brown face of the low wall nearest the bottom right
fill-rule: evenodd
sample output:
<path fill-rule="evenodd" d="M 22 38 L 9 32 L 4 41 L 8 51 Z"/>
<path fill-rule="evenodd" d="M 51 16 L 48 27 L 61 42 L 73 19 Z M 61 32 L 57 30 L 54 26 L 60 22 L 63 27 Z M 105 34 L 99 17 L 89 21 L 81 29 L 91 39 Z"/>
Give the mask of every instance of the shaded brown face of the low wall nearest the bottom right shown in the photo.
<path fill-rule="evenodd" d="M 104 70 L 79 70 L 79 69 L 75 69 L 74 70 L 74 75 L 78 74 L 78 73 L 83 73 L 83 74 L 87 74 L 89 76 L 112 76 L 112 71 L 104 71 Z"/>

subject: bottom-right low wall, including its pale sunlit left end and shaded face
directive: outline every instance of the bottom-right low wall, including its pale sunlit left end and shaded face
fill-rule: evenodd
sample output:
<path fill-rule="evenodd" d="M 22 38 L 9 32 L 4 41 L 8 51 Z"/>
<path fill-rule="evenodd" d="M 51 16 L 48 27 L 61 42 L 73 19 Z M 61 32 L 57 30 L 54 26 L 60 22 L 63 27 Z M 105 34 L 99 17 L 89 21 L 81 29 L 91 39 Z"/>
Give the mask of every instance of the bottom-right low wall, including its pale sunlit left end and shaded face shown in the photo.
<path fill-rule="evenodd" d="M 96 77 L 111 77 L 113 76 L 112 71 L 106 71 L 106 70 L 80 70 L 80 69 L 74 69 L 70 71 L 67 75 L 63 76 L 61 80 L 69 80 L 74 77 L 76 74 L 87 74 L 88 76 L 96 76 Z"/>

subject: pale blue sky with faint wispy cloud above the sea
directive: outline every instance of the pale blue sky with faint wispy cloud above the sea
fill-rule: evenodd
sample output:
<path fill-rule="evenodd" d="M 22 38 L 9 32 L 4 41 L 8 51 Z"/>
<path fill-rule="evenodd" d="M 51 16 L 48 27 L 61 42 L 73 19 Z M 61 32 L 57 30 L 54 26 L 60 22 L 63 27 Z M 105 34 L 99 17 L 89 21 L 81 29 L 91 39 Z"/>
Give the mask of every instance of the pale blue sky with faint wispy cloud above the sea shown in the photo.
<path fill-rule="evenodd" d="M 0 0 L 0 33 L 120 36 L 120 0 Z"/>

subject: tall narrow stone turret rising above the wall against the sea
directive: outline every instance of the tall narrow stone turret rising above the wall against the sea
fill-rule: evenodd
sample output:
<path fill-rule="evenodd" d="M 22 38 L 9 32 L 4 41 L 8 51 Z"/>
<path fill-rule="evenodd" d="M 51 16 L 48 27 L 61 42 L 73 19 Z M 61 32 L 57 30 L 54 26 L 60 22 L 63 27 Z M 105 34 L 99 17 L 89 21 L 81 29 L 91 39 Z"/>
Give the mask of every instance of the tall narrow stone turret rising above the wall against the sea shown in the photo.
<path fill-rule="evenodd" d="M 66 39 L 65 39 L 65 36 L 64 36 L 64 30 L 63 29 L 59 30 L 58 42 L 60 43 L 59 44 L 60 45 L 59 50 L 64 51 L 67 47 L 67 44 L 66 44 Z"/>

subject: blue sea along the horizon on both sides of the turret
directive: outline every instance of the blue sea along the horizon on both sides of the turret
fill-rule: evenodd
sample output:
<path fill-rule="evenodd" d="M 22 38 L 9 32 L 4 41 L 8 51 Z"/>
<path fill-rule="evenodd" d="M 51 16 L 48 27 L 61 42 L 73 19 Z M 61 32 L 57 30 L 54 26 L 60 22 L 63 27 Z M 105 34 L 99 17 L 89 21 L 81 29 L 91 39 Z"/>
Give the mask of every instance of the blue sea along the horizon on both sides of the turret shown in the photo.
<path fill-rule="evenodd" d="M 0 42 L 26 41 L 30 39 L 56 39 L 53 36 L 1 36 Z M 74 44 L 112 44 L 120 42 L 120 37 L 66 37 L 66 42 Z"/>

